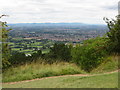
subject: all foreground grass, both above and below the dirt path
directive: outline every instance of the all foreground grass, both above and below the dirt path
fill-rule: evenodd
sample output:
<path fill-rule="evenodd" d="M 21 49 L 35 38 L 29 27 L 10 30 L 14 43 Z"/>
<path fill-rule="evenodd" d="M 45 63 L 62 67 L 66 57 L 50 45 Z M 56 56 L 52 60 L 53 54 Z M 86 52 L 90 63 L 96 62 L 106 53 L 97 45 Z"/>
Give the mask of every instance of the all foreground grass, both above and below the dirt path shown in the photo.
<path fill-rule="evenodd" d="M 109 56 L 106 58 L 105 62 L 103 62 L 98 68 L 94 69 L 90 74 L 111 72 L 117 69 L 118 69 L 118 60 L 114 56 Z M 80 73 L 85 73 L 85 72 L 82 71 L 80 67 L 76 66 L 75 64 L 64 63 L 64 62 L 61 62 L 58 64 L 54 63 L 51 65 L 44 64 L 44 63 L 43 64 L 32 63 L 32 64 L 27 64 L 27 65 L 22 65 L 16 68 L 10 68 L 8 71 L 3 73 L 3 81 L 13 82 L 13 81 L 22 81 L 22 80 L 28 80 L 28 79 L 34 79 L 34 78 L 59 76 L 59 75 L 66 75 L 66 74 L 80 74 Z M 101 88 L 102 87 L 117 87 L 117 82 L 116 82 L 117 76 L 116 75 L 117 74 L 110 74 L 110 75 L 92 76 L 92 77 L 85 77 L 85 78 L 83 77 L 62 77 L 63 79 L 62 78 L 47 79 L 48 81 L 46 81 L 45 79 L 45 80 L 40 80 L 40 81 L 34 81 L 35 84 L 31 82 L 33 84 L 33 86 L 31 85 L 31 87 L 50 87 L 49 83 L 53 83 L 53 85 L 55 84 L 55 86 L 51 86 L 51 87 L 86 87 L 87 88 L 87 87 L 90 87 L 91 85 L 92 87 L 101 87 Z M 64 79 L 68 80 L 68 83 L 64 82 Z M 77 80 L 77 79 L 80 79 L 80 80 Z M 73 80 L 74 82 L 73 81 L 71 82 L 71 80 Z M 46 83 L 46 82 L 49 82 L 49 83 Z M 4 85 L 4 87 L 7 87 L 7 86 L 8 87 L 16 87 L 16 86 L 17 87 L 22 87 L 22 86 L 29 87 L 30 86 L 29 83 L 26 83 L 25 85 L 24 83 L 20 85 L 15 84 L 13 86 Z M 37 83 L 39 85 L 35 86 L 37 85 Z M 71 83 L 70 84 L 71 86 L 69 86 L 69 83 Z"/>

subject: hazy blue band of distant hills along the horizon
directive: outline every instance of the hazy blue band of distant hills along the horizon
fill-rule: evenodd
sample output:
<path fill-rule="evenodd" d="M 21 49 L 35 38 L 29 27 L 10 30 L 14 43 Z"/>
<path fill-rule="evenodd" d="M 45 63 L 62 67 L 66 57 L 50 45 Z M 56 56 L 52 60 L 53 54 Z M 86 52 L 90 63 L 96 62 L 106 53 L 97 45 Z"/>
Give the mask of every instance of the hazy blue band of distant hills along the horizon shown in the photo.
<path fill-rule="evenodd" d="M 84 24 L 84 23 L 16 23 L 8 24 L 13 30 L 108 30 L 104 24 Z"/>

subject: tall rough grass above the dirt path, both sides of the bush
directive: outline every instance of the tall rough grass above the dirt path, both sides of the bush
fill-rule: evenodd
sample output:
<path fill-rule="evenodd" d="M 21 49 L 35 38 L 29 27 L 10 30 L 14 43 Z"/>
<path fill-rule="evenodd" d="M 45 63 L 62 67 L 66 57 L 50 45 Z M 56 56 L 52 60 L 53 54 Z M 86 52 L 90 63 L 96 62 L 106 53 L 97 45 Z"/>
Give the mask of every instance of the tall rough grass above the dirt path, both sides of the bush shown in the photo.
<path fill-rule="evenodd" d="M 90 74 L 105 73 L 118 69 L 118 60 L 114 56 L 109 56 L 106 60 Z M 60 76 L 67 74 L 85 73 L 79 66 L 73 63 L 59 62 L 53 64 L 45 64 L 42 59 L 31 64 L 11 67 L 3 73 L 3 82 L 14 82 L 22 80 L 30 80 L 35 78 Z"/>

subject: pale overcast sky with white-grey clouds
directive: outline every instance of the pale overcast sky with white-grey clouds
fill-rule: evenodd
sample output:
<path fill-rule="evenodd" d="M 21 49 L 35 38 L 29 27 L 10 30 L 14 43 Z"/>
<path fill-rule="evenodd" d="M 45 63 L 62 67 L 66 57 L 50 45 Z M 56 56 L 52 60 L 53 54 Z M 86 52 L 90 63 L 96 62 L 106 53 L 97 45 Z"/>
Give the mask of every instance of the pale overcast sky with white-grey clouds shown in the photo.
<path fill-rule="evenodd" d="M 105 24 L 114 18 L 119 0 L 0 0 L 0 15 L 8 23 L 80 22 Z"/>

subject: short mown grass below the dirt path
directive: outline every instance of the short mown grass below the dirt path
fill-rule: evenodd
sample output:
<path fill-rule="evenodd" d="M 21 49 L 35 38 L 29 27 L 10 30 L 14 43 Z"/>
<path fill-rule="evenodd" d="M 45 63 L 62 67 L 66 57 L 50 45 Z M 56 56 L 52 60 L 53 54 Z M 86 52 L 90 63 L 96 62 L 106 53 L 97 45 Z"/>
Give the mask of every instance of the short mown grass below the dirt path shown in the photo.
<path fill-rule="evenodd" d="M 47 78 L 31 82 L 3 84 L 3 88 L 118 88 L 118 73 L 88 77 Z"/>

